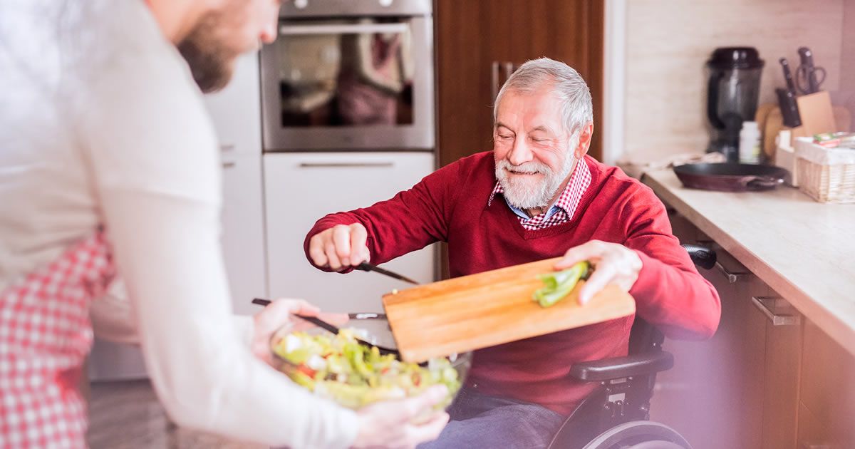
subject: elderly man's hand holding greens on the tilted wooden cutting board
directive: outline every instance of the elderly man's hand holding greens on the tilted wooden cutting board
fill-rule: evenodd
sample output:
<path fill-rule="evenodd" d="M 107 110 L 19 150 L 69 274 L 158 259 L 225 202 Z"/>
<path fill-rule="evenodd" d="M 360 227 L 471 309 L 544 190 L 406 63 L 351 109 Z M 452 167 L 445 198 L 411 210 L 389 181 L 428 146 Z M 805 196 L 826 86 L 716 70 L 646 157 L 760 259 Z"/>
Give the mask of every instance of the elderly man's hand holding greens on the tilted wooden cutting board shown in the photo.
<path fill-rule="evenodd" d="M 633 287 L 639 278 L 641 259 L 635 251 L 624 245 L 600 240 L 591 240 L 570 248 L 555 269 L 569 269 L 575 263 L 587 260 L 596 267 L 593 275 L 579 291 L 579 302 L 587 304 L 593 295 L 609 284 L 616 284 L 625 291 Z"/>

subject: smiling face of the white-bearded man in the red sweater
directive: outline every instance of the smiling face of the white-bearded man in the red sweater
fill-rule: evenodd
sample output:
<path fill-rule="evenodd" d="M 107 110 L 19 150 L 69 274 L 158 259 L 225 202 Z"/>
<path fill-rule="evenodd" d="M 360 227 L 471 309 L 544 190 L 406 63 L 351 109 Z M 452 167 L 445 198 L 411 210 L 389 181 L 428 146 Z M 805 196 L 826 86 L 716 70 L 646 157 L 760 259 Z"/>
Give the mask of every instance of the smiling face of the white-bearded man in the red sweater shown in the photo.
<path fill-rule="evenodd" d="M 578 137 L 565 129 L 560 103 L 545 87 L 505 92 L 493 128 L 496 178 L 504 198 L 518 208 L 550 204 L 569 176 Z"/>

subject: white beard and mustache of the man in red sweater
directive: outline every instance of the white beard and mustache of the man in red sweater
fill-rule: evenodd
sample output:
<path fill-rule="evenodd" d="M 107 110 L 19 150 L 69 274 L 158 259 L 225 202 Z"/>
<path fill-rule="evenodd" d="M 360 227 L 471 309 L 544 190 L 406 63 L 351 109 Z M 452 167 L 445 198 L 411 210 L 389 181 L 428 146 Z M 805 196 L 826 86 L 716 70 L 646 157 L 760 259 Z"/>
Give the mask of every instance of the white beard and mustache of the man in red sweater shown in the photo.
<path fill-rule="evenodd" d="M 558 187 L 567 179 L 573 169 L 575 157 L 568 152 L 564 158 L 560 173 L 555 173 L 542 162 L 525 162 L 513 165 L 507 159 L 496 162 L 496 179 L 504 190 L 504 199 L 508 204 L 519 209 L 534 209 L 546 207 L 555 196 Z M 508 170 L 516 173 L 543 174 L 542 180 L 528 176 L 514 176 Z"/>

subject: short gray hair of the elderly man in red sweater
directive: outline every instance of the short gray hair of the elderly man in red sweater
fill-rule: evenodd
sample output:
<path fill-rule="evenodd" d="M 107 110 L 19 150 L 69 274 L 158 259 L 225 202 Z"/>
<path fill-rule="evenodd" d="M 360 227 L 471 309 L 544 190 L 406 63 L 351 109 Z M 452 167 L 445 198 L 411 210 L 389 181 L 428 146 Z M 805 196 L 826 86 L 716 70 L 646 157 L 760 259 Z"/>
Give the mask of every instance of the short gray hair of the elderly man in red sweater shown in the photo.
<path fill-rule="evenodd" d="M 496 121 L 498 103 L 502 101 L 505 92 L 532 93 L 543 86 L 551 86 L 561 102 L 561 113 L 567 132 L 575 134 L 581 127 L 593 121 L 591 91 L 588 90 L 585 80 L 569 65 L 548 57 L 528 61 L 510 75 L 498 91 L 496 103 L 492 108 L 492 120 Z"/>

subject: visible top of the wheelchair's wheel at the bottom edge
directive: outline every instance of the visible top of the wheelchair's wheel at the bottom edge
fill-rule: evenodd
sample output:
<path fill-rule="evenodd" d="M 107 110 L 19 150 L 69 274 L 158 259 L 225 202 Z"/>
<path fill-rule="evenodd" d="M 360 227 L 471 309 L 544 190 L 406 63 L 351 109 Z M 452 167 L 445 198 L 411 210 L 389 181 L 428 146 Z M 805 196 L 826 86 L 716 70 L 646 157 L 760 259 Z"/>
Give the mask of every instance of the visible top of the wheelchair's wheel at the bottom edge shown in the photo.
<path fill-rule="evenodd" d="M 692 449 L 692 446 L 664 424 L 630 421 L 599 434 L 582 449 Z"/>

